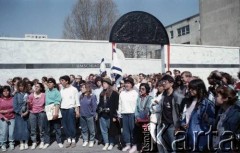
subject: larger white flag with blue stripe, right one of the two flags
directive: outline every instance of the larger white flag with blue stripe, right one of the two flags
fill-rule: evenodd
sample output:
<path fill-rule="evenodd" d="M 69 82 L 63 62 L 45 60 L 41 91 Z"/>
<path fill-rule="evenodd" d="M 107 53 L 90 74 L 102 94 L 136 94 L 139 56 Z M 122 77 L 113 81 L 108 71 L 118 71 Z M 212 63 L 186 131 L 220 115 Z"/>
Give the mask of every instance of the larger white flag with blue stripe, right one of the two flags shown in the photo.
<path fill-rule="evenodd" d="M 122 80 L 123 73 L 122 73 L 122 67 L 118 61 L 117 52 L 114 47 L 113 47 L 113 62 L 112 62 L 111 74 L 115 80 L 116 85 L 118 85 L 119 82 Z"/>

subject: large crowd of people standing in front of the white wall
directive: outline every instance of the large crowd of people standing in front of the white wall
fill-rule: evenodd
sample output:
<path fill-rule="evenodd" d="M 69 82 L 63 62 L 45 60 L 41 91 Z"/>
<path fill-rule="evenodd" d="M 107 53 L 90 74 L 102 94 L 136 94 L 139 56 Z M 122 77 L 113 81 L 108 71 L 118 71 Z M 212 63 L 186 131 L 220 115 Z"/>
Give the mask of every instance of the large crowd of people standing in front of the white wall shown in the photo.
<path fill-rule="evenodd" d="M 106 151 L 118 144 L 124 152 L 146 152 L 146 125 L 160 153 L 239 148 L 240 72 L 234 80 L 215 70 L 208 88 L 198 76 L 179 70 L 124 75 L 119 84 L 106 74 L 58 79 L 14 77 L 1 86 L 2 151 L 17 143 L 20 150 L 47 149 L 53 140 L 60 148 L 73 148 L 80 131 L 82 147 L 98 142 Z"/>

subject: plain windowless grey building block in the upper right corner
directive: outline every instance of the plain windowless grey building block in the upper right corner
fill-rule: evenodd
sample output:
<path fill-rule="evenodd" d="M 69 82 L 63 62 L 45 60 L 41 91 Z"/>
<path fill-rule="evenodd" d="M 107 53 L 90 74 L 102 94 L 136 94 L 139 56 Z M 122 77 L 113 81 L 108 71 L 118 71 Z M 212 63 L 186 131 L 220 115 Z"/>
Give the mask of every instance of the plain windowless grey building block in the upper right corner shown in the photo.
<path fill-rule="evenodd" d="M 240 0 L 199 0 L 203 45 L 240 46 Z"/>

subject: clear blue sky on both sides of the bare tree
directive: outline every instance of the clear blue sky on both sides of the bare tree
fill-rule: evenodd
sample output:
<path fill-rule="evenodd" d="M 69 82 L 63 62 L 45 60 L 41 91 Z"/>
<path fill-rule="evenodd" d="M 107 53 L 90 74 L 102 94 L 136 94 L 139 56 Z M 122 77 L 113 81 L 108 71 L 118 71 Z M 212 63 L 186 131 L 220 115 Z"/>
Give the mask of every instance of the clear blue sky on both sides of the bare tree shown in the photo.
<path fill-rule="evenodd" d="M 199 13 L 199 0 L 114 0 L 120 15 L 145 11 L 164 26 Z M 63 23 L 77 0 L 0 0 L 0 36 L 46 34 L 61 38 Z"/>

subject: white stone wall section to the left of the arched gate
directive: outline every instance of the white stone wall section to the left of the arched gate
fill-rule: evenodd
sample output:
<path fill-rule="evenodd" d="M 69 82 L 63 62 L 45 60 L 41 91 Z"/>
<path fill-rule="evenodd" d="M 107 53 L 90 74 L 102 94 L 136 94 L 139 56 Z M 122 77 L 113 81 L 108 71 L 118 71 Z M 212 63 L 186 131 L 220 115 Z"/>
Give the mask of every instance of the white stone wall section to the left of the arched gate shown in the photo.
<path fill-rule="evenodd" d="M 0 39 L 0 64 L 99 64 L 102 58 L 105 58 L 105 63 L 111 63 L 111 43 L 106 41 Z M 2 74 L 0 84 L 5 84 L 8 78 L 14 76 L 30 79 L 53 76 L 58 79 L 66 74 L 80 74 L 83 77 L 90 73 L 99 74 L 99 68 L 1 69 L 0 71 Z"/>

